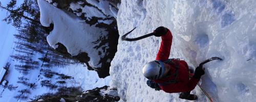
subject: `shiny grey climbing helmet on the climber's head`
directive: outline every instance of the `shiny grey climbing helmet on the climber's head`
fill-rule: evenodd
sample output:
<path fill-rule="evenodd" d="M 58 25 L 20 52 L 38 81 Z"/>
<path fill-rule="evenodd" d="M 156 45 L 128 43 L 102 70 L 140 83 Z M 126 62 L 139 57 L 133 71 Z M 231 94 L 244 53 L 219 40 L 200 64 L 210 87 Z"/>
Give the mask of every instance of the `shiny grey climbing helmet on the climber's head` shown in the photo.
<path fill-rule="evenodd" d="M 148 62 L 142 69 L 143 75 L 149 80 L 163 78 L 164 63 L 159 60 Z"/>

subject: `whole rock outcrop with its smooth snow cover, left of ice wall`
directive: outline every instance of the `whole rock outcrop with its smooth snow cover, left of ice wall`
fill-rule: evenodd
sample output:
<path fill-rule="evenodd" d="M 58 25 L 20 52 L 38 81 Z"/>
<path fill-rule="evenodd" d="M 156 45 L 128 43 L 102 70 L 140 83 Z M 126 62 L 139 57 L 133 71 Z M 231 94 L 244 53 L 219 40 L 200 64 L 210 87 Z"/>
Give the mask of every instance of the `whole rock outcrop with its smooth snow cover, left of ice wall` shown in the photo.
<path fill-rule="evenodd" d="M 108 2 L 72 2 L 69 11 L 72 9 L 77 16 L 48 2 L 38 0 L 41 24 L 45 27 L 54 25 L 47 36 L 49 45 L 55 49 L 62 45 L 60 49 L 66 48 L 68 54 L 86 63 L 88 68 L 96 70 L 100 78 L 108 76 L 119 37 L 116 20 L 113 17 L 115 14 L 110 6 L 104 5 Z M 57 4 L 57 7 L 61 6 L 60 3 Z M 77 9 L 82 10 L 79 17 Z"/>

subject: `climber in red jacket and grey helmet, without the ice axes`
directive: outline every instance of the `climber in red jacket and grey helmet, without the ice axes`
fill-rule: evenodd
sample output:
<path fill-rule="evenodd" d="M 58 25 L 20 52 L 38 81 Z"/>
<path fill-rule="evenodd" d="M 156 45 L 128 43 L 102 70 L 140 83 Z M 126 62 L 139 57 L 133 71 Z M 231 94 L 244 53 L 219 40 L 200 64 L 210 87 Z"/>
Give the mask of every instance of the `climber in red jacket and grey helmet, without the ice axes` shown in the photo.
<path fill-rule="evenodd" d="M 195 89 L 204 74 L 204 69 L 197 67 L 193 75 L 185 61 L 168 59 L 173 40 L 172 33 L 165 27 L 158 27 L 154 33 L 156 37 L 161 37 L 162 41 L 156 60 L 148 62 L 142 69 L 144 77 L 149 79 L 147 85 L 167 93 L 181 92 L 179 98 L 182 99 L 197 99 L 190 91 Z"/>

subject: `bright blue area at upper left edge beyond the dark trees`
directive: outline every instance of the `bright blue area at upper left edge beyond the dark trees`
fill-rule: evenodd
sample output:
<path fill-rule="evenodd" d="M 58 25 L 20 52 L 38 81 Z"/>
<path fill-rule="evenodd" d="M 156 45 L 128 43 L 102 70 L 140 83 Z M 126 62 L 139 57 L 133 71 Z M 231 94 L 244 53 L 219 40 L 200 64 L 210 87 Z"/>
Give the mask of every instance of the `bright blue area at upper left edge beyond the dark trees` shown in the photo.
<path fill-rule="evenodd" d="M 22 1 L 17 1 L 20 4 Z M 1 0 L 2 6 L 9 3 L 7 0 Z M 17 34 L 16 29 L 7 24 L 3 19 L 6 17 L 6 10 L 0 9 L 0 67 L 3 67 L 10 60 L 12 55 L 15 38 L 13 34 Z"/>

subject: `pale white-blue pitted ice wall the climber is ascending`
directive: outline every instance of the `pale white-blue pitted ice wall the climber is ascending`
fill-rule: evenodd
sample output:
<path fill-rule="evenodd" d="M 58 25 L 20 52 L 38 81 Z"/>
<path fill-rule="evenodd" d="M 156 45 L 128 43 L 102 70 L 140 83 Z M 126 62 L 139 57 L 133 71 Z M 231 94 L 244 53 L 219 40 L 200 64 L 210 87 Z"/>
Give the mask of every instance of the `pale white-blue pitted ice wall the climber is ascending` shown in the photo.
<path fill-rule="evenodd" d="M 137 27 L 128 37 L 153 32 L 159 26 L 173 33 L 169 58 L 188 65 L 210 57 L 224 61 L 206 64 L 202 86 L 214 101 L 254 101 L 256 97 L 256 1 L 122 1 L 117 15 L 119 34 Z M 124 101 L 186 101 L 178 93 L 155 91 L 146 85 L 143 65 L 155 59 L 160 37 L 135 42 L 119 39 L 111 62 L 111 85 Z M 209 101 L 197 86 L 196 101 Z"/>

